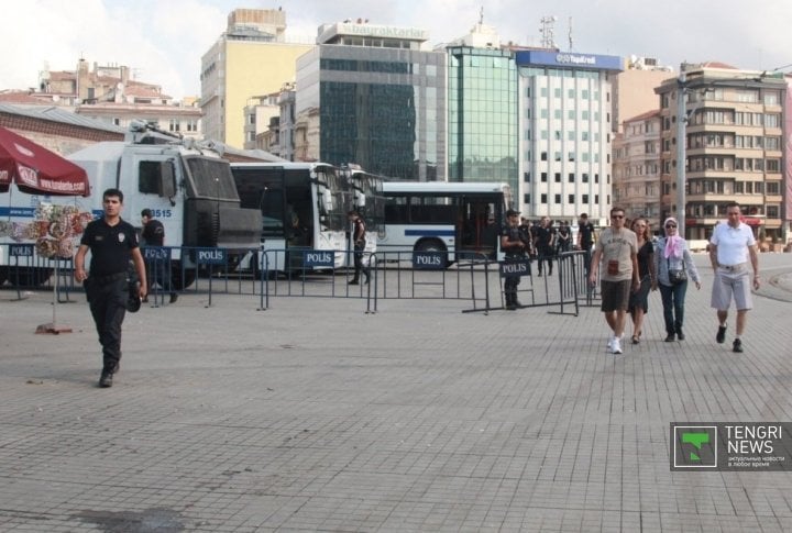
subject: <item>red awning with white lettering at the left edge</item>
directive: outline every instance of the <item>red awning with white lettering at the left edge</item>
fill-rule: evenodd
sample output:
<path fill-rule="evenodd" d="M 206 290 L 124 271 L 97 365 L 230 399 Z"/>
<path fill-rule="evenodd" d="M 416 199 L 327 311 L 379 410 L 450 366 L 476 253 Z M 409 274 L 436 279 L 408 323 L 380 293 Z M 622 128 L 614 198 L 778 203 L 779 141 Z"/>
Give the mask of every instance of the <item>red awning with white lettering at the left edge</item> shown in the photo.
<path fill-rule="evenodd" d="M 11 181 L 30 195 L 90 195 L 81 167 L 0 126 L 0 192 L 8 191 Z"/>

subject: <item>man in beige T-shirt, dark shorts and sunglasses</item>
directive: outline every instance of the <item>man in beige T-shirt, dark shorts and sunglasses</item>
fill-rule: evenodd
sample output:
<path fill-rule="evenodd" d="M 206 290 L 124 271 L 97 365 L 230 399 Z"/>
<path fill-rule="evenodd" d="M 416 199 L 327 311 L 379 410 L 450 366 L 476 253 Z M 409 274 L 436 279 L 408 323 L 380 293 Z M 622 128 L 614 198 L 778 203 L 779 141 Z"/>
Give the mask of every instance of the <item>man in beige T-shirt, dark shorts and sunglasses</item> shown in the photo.
<path fill-rule="evenodd" d="M 610 227 L 603 230 L 597 240 L 588 274 L 591 286 L 596 285 L 601 263 L 601 309 L 613 332 L 608 348 L 613 354 L 620 354 L 629 296 L 640 288 L 638 238 L 625 227 L 625 211 L 622 208 L 610 210 Z"/>

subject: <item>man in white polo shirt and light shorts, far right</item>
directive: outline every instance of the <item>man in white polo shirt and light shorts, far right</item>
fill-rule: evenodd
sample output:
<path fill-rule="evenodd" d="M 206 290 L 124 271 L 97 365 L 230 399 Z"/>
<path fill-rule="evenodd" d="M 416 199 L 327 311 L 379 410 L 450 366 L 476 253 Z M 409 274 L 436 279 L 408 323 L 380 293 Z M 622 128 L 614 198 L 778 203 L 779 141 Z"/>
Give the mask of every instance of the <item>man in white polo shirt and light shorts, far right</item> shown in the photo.
<path fill-rule="evenodd" d="M 710 237 L 710 263 L 715 271 L 713 281 L 712 307 L 717 310 L 718 332 L 715 341 L 726 341 L 726 319 L 734 299 L 737 308 L 736 335 L 732 349 L 743 352 L 747 312 L 754 307 L 751 286 L 759 288 L 759 253 L 754 232 L 740 221 L 740 207 L 737 202 L 726 204 L 726 222 L 715 226 Z M 748 268 L 748 259 L 754 278 Z"/>

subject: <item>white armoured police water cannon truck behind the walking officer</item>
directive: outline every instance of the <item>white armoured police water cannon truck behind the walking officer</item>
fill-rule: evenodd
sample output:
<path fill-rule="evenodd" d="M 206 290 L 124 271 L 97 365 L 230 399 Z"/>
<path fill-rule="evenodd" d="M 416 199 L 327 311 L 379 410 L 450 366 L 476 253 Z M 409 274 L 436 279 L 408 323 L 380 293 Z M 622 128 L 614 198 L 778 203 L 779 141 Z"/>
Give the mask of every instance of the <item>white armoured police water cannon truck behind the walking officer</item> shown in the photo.
<path fill-rule="evenodd" d="M 239 257 L 260 246 L 261 211 L 240 207 L 230 164 L 222 155 L 220 144 L 182 138 L 133 121 L 123 142 L 97 143 L 67 156 L 86 169 L 90 198 L 35 197 L 10 190 L 0 193 L 0 206 L 8 206 L 10 220 L 19 223 L 33 221 L 38 202 L 76 206 L 100 216 L 102 192 L 118 188 L 124 193 L 124 220 L 140 227 L 141 211 L 151 209 L 165 226 L 173 285 L 182 289 L 198 271 L 198 248 L 221 248 L 233 266 Z M 13 241 L 2 237 L 0 242 Z M 16 262 L 9 255 L 3 254 L 0 264 L 0 284 L 21 279 L 26 285 L 41 285 L 50 279 L 52 269 L 43 262 L 35 262 L 33 269 L 26 263 L 23 273 L 23 267 L 14 273 Z"/>

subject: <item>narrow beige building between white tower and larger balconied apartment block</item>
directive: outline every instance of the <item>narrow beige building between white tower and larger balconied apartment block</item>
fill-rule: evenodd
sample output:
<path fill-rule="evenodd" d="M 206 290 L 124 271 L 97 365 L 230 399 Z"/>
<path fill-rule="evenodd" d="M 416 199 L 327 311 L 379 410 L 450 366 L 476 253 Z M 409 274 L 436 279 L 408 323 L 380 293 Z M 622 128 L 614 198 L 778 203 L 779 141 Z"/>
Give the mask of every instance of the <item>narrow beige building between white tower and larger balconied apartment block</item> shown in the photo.
<path fill-rule="evenodd" d="M 614 140 L 613 204 L 627 218 L 646 216 L 657 231 L 660 220 L 660 110 L 625 120 Z"/>

